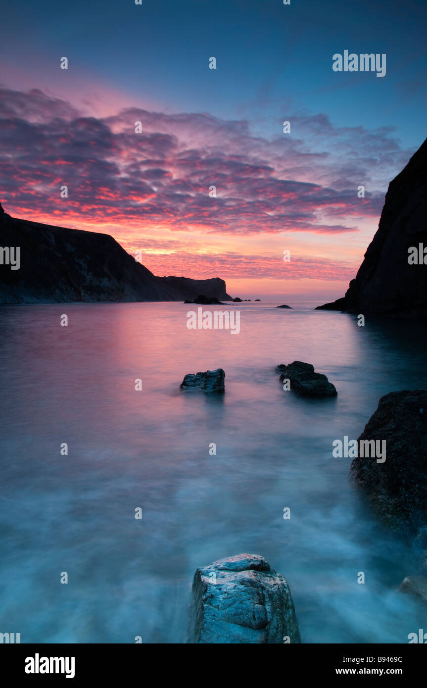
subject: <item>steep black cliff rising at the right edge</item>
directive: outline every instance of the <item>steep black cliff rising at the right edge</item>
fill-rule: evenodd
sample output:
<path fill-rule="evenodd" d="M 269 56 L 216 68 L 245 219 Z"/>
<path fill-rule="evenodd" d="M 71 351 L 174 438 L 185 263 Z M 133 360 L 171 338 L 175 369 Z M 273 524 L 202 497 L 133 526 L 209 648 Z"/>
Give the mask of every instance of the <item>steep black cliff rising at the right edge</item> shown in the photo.
<path fill-rule="evenodd" d="M 344 297 L 317 310 L 427 316 L 426 264 L 408 249 L 427 247 L 427 139 L 388 186 L 377 232 Z"/>

